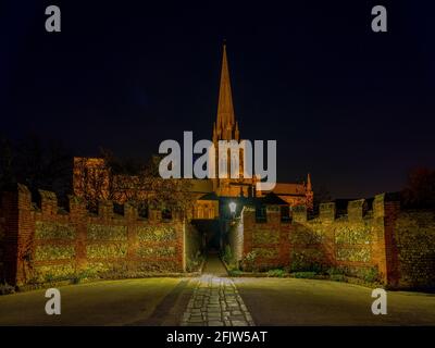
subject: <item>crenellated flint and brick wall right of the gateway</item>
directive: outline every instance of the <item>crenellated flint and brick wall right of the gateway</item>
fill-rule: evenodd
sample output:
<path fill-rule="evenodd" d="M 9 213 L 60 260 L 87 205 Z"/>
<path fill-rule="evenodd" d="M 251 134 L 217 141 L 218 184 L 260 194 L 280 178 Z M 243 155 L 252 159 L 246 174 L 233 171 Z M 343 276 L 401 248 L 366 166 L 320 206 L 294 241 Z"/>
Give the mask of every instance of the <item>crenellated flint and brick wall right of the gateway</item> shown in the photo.
<path fill-rule="evenodd" d="M 253 251 L 260 270 L 335 270 L 377 277 L 391 288 L 435 287 L 435 213 L 401 211 L 387 194 L 377 195 L 371 209 L 364 199 L 350 201 L 340 216 L 334 202 L 321 204 L 314 219 L 295 207 L 290 222 L 281 220 L 278 206 L 268 207 L 265 222 L 245 207 L 239 227 L 243 238 L 235 235 L 240 228 L 228 238 L 233 250 L 243 244 L 237 261 Z"/>

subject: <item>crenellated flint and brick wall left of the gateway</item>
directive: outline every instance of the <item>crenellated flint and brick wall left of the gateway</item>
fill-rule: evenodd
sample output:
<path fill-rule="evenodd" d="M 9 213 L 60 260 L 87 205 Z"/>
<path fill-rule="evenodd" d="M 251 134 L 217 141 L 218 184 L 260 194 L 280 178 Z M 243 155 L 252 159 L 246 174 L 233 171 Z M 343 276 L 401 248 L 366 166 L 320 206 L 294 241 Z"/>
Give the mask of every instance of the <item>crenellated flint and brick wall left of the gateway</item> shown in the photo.
<path fill-rule="evenodd" d="M 177 214 L 165 221 L 161 211 L 151 210 L 141 219 L 130 203 L 115 213 L 111 201 L 101 201 L 92 214 L 75 196 L 66 211 L 53 192 L 44 190 L 36 200 L 24 185 L 2 194 L 4 277 L 10 284 L 184 272 L 197 253 L 199 236 Z"/>

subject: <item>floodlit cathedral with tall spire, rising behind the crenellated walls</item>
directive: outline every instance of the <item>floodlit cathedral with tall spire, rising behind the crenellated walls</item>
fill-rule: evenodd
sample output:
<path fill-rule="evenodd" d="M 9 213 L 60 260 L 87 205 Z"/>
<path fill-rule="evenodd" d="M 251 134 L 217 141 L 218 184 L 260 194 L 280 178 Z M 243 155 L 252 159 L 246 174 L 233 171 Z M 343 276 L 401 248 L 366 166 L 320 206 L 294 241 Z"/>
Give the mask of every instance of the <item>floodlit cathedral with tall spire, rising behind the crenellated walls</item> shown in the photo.
<path fill-rule="evenodd" d="M 212 142 L 214 145 L 214 149 L 216 149 L 215 167 L 217 169 L 220 167 L 220 165 L 224 167 L 226 166 L 227 173 L 229 174 L 232 161 L 237 160 L 234 158 L 234 156 L 238 156 L 239 175 L 236 178 L 229 177 L 229 175 L 227 175 L 226 178 L 223 178 L 217 175 L 217 177 L 215 178 L 184 179 L 189 181 L 189 190 L 195 201 L 195 208 L 191 216 L 197 220 L 213 220 L 221 215 L 222 207 L 225 207 L 228 201 L 241 202 L 241 204 L 239 204 L 240 209 L 240 206 L 243 206 L 244 201 L 246 202 L 247 200 L 249 200 L 261 202 L 261 199 L 272 196 L 274 197 L 273 199 L 275 199 L 275 201 L 278 200 L 281 204 L 287 206 L 290 209 L 291 207 L 299 204 L 303 204 L 308 207 L 308 209 L 312 208 L 313 191 L 310 174 L 308 174 L 306 183 L 276 183 L 272 191 L 261 191 L 257 190 L 256 188 L 257 177 L 254 175 L 253 177 L 244 177 L 243 149 L 238 150 L 239 153 L 232 153 L 228 149 L 228 153 L 226 157 L 221 157 L 217 153 L 217 144 L 220 140 L 236 140 L 237 142 L 239 142 L 240 139 L 240 129 L 238 122 L 236 121 L 233 105 L 226 46 L 224 45 L 217 101 L 217 114 L 212 128 Z M 222 165 L 222 163 L 219 163 L 219 161 L 222 161 L 222 159 L 227 161 L 226 165 Z M 101 171 L 102 165 L 102 159 L 74 159 L 73 188 L 76 196 L 83 197 L 85 191 L 84 187 L 88 185 L 95 185 L 95 183 L 88 183 L 88 179 L 86 179 L 85 182 L 83 179 L 78 179 L 84 177 L 84 169 L 86 169 L 87 172 L 90 171 L 94 173 L 98 173 L 99 171 Z M 126 183 L 124 176 L 120 179 L 114 177 L 114 183 L 110 183 L 108 177 L 109 175 L 103 175 L 103 179 L 100 181 L 100 185 L 103 186 L 103 189 L 99 190 L 100 194 L 104 191 L 105 186 L 109 187 L 109 185 L 112 185 L 113 188 L 113 185 L 116 185 L 116 183 Z M 134 181 L 135 178 L 132 177 L 130 179 Z M 89 191 L 89 189 L 87 191 Z M 119 197 L 120 198 L 115 198 L 115 200 L 120 200 L 120 202 L 123 203 L 125 201 L 125 198 L 121 198 L 121 195 Z"/>

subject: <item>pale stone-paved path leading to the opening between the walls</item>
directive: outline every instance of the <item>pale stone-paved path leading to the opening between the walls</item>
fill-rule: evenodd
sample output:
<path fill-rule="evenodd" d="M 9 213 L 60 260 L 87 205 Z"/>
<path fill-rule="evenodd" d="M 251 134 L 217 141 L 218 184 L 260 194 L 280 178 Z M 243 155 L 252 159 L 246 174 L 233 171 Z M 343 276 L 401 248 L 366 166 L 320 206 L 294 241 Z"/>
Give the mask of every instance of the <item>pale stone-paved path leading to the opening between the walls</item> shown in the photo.
<path fill-rule="evenodd" d="M 254 325 L 236 285 L 226 276 L 219 257 L 210 254 L 183 315 L 183 326 Z"/>

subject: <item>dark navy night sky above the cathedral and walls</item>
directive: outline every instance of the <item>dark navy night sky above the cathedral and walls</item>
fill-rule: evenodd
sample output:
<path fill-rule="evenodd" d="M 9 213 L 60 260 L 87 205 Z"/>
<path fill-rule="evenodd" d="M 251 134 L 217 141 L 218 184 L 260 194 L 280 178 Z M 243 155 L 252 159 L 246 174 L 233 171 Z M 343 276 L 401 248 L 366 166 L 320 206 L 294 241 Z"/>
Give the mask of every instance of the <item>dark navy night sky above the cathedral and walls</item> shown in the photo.
<path fill-rule="evenodd" d="M 430 3 L 3 0 L 0 133 L 86 156 L 210 138 L 225 38 L 241 137 L 277 140 L 278 181 L 310 172 L 335 197 L 397 190 L 409 169 L 435 165 Z M 48 4 L 61 33 L 45 30 Z M 388 33 L 371 30 L 374 4 Z"/>

